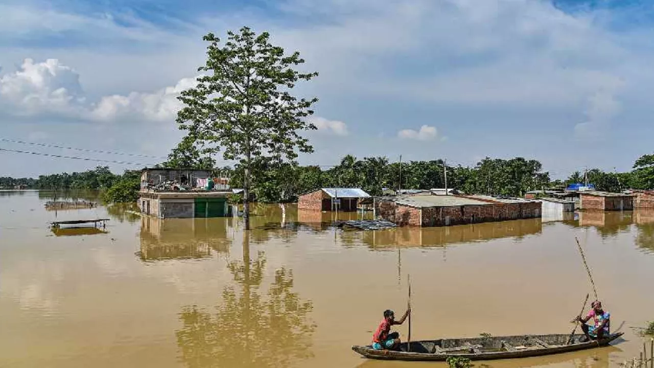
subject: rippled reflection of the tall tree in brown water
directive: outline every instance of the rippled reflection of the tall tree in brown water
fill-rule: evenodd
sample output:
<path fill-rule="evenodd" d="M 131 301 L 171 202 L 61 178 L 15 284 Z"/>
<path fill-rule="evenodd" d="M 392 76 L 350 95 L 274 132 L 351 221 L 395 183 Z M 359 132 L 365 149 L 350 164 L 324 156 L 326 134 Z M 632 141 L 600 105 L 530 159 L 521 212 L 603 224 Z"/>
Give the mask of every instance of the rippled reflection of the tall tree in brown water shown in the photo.
<path fill-rule="evenodd" d="M 282 267 L 262 295 L 266 259 L 263 252 L 250 260 L 249 234 L 243 235 L 243 261 L 228 265 L 239 287 L 222 292 L 222 304 L 212 313 L 184 306 L 176 331 L 181 360 L 188 367 L 288 367 L 310 358 L 317 327 L 308 314 L 311 301 L 293 289 L 293 273 Z"/>

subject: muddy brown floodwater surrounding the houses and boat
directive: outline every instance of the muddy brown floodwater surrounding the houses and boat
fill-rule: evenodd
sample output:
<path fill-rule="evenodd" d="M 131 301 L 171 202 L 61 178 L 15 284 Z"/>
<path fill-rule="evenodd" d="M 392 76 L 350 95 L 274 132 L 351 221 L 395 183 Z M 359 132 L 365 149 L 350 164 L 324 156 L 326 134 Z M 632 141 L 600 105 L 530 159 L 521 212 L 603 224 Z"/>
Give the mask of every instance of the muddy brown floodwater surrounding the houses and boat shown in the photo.
<path fill-rule="evenodd" d="M 632 327 L 654 320 L 654 212 L 360 231 L 254 205 L 247 232 L 238 218 L 49 212 L 47 200 L 0 192 L 0 367 L 446 367 L 351 346 L 370 343 L 383 310 L 404 313 L 409 274 L 414 340 L 570 333 L 593 299 L 575 236 L 624 339 L 475 366 L 618 367 L 642 349 Z M 101 217 L 104 230 L 47 227 Z M 407 323 L 397 330 L 405 339 Z"/>

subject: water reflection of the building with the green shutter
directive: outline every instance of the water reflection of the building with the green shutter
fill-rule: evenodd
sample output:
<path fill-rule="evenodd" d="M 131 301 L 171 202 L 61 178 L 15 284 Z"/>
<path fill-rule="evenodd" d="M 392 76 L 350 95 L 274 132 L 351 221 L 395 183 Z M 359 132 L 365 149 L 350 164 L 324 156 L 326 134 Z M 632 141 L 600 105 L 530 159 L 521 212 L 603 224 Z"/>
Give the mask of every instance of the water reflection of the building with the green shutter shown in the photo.
<path fill-rule="evenodd" d="M 141 218 L 142 261 L 162 259 L 202 259 L 216 253 L 228 253 L 232 240 L 230 217 L 205 219 Z"/>

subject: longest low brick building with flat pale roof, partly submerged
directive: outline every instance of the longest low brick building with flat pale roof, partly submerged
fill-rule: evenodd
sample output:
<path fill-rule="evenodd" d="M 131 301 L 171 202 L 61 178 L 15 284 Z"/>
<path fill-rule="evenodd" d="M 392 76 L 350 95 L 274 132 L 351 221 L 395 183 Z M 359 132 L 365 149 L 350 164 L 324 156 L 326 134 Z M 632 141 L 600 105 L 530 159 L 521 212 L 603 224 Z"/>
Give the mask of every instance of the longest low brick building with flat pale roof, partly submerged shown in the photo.
<path fill-rule="evenodd" d="M 377 198 L 378 217 L 400 226 L 450 226 L 541 216 L 541 202 L 492 196 L 397 196 Z"/>

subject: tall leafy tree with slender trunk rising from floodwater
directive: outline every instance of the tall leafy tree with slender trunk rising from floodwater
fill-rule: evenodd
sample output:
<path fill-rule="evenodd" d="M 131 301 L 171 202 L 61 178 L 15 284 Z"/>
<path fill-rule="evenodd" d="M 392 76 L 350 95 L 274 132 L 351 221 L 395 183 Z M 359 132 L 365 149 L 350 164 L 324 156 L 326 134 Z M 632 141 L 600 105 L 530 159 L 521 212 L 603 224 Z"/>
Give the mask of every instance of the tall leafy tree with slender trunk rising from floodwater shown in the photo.
<path fill-rule="evenodd" d="M 221 43 L 213 33 L 203 37 L 207 62 L 198 84 L 184 90 L 184 107 L 177 115 L 182 130 L 205 144 L 204 153 L 222 151 L 226 160 L 239 160 L 245 169 L 243 217 L 249 227 L 249 191 L 253 158 L 294 162 L 298 153 L 313 152 L 300 130 L 316 129 L 304 118 L 312 115 L 306 100 L 290 94 L 298 81 L 309 81 L 318 73 L 301 73 L 300 52 L 285 54 L 269 43 L 269 33 L 257 35 L 248 27 L 228 31 Z"/>

